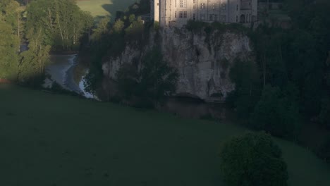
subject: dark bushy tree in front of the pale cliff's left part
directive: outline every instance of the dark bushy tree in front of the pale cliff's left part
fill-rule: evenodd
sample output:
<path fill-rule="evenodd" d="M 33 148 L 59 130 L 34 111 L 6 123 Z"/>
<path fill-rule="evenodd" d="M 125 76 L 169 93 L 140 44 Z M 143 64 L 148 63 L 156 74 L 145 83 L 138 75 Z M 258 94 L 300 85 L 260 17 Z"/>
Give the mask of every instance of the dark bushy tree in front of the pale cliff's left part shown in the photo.
<path fill-rule="evenodd" d="M 142 59 L 141 70 L 134 64 L 126 64 L 118 70 L 116 77 L 121 95 L 152 103 L 176 90 L 178 72 L 163 60 L 159 50 L 154 49 Z"/>

